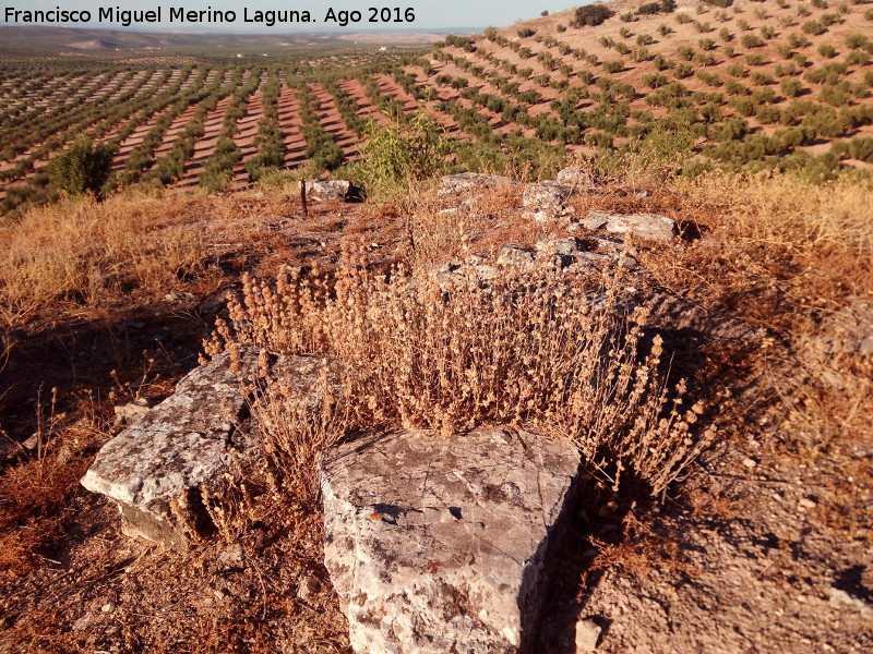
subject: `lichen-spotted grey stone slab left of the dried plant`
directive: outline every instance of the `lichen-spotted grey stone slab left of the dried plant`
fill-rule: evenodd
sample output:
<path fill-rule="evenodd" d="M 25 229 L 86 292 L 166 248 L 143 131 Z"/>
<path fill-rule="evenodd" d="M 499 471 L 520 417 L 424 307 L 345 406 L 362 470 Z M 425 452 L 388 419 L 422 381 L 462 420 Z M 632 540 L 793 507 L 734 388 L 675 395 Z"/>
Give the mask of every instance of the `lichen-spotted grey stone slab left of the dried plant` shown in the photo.
<path fill-rule="evenodd" d="M 256 447 L 239 429 L 252 401 L 240 378 L 258 370 L 259 352 L 240 347 L 236 364 L 225 352 L 194 368 L 97 453 L 82 485 L 118 505 L 124 533 L 179 549 L 210 533 L 202 491 L 220 489 L 234 457 Z M 323 365 L 314 358 L 273 359 L 283 378 L 303 390 Z"/>

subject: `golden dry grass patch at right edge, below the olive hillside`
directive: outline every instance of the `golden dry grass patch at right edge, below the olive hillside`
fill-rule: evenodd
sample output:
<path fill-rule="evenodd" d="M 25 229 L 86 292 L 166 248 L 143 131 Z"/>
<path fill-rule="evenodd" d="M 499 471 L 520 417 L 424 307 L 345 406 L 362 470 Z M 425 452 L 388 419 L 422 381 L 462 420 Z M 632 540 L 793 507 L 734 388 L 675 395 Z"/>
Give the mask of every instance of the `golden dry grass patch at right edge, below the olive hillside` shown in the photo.
<path fill-rule="evenodd" d="M 844 178 L 710 174 L 671 184 L 705 237 L 647 261 L 668 288 L 775 330 L 802 334 L 873 288 L 873 189 Z"/>

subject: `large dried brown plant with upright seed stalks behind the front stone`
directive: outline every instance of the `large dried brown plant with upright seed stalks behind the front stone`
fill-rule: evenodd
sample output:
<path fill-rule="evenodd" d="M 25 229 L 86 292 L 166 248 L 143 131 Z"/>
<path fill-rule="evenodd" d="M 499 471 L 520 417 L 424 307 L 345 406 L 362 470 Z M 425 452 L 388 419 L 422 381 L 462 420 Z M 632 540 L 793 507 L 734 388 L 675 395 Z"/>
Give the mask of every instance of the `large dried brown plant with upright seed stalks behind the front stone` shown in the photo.
<path fill-rule="evenodd" d="M 482 284 L 366 264 L 346 249 L 330 282 L 291 270 L 274 283 L 246 278 L 208 343 L 338 364 L 339 399 L 324 415 L 268 385 L 259 419 L 277 461 L 311 461 L 310 448 L 374 425 L 451 436 L 502 423 L 571 439 L 615 488 L 631 473 L 660 493 L 709 437 L 693 427 L 703 408 L 682 407 L 684 384 L 665 386 L 660 341 L 642 355 L 648 312 L 624 308 L 618 272 L 584 286 L 553 267 L 506 269 Z"/>

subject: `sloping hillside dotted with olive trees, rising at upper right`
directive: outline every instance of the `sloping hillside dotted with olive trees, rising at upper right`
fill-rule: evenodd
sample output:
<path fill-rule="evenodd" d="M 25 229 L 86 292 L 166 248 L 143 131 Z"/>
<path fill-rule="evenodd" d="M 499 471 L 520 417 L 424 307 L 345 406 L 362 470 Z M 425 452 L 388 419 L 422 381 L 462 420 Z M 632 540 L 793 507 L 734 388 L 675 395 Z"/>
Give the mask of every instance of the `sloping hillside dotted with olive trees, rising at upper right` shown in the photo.
<path fill-rule="evenodd" d="M 577 25 L 570 10 L 446 39 L 410 72 L 494 131 L 521 125 L 573 150 L 648 143 L 694 153 L 690 170 L 869 167 L 873 15 L 863 3 L 602 7 L 593 22 L 611 17 L 597 25 Z M 670 138 L 656 137 L 663 131 Z"/>

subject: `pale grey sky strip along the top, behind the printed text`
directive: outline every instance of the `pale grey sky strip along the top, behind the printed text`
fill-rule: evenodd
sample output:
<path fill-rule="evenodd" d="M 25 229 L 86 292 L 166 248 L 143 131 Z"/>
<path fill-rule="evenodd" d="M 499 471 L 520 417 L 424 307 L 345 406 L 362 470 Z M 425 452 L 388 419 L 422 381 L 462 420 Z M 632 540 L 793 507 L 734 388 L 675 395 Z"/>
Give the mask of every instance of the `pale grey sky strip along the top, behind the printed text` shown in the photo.
<path fill-rule="evenodd" d="M 121 25 L 119 23 L 97 23 L 98 8 L 118 8 L 120 10 L 150 10 L 163 7 L 162 24 L 148 23 L 136 24 L 131 28 L 141 29 L 144 32 L 156 28 L 172 28 L 183 31 L 186 28 L 203 29 L 204 27 L 214 27 L 222 31 L 232 32 L 313 32 L 313 31 L 330 31 L 330 32 L 363 32 L 363 31 L 378 31 L 378 29 L 392 29 L 392 31 L 426 31 L 439 28 L 457 28 L 457 27 L 475 27 L 483 28 L 489 25 L 502 27 L 511 25 L 516 21 L 529 20 L 539 15 L 543 10 L 551 12 L 562 11 L 570 9 L 574 4 L 587 4 L 587 0 L 577 0 L 575 3 L 572 0 L 540 0 L 531 3 L 527 0 L 427 0 L 416 1 L 409 0 L 408 2 L 398 2 L 392 0 L 380 4 L 376 0 L 370 2 L 361 2 L 360 0 L 177 0 L 177 1 L 150 1 L 150 0 L 2 0 L 0 2 L 0 25 L 16 24 L 14 21 L 5 20 L 7 8 L 19 10 L 55 10 L 60 8 L 68 11 L 82 11 L 88 10 L 92 12 L 92 21 L 88 24 L 59 24 L 50 23 L 62 27 L 105 27 L 117 28 Z M 234 10 L 237 12 L 237 20 L 235 23 L 216 24 L 216 23 L 169 23 L 168 13 L 169 8 L 182 7 L 186 11 L 202 11 L 212 8 L 213 10 Z M 415 21 L 411 23 L 371 23 L 369 22 L 370 12 L 369 7 L 399 7 L 402 12 L 405 13 L 407 8 L 411 8 L 415 14 Z M 282 11 L 282 10 L 308 10 L 312 17 L 316 21 L 309 24 L 283 24 L 277 23 L 274 27 L 266 27 L 263 24 L 246 23 L 243 22 L 243 8 L 249 10 L 252 14 L 255 11 Z M 340 11 L 358 10 L 361 12 L 361 22 L 349 23 L 345 27 L 338 23 L 324 22 L 327 10 L 333 8 L 338 14 Z M 392 14 L 393 15 L 393 14 Z M 21 21 L 17 24 L 22 24 Z M 47 24 L 47 23 L 41 23 Z"/>

